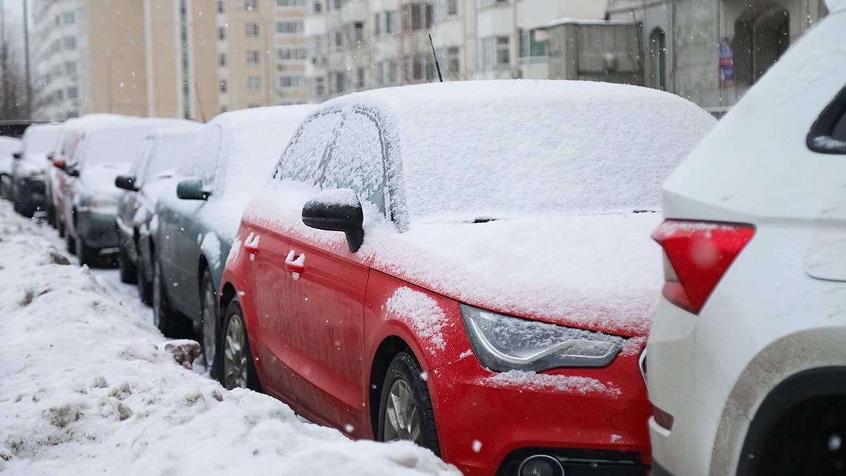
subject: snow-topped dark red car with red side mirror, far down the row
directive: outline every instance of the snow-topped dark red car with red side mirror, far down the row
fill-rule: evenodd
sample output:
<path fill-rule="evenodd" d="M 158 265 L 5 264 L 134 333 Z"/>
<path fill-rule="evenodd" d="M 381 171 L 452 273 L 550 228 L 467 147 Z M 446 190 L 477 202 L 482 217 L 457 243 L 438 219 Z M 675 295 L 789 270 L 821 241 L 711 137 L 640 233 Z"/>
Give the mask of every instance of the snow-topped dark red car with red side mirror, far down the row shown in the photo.
<path fill-rule="evenodd" d="M 62 124 L 58 139 L 52 152 L 47 157 L 50 160 L 58 160 L 59 163 L 74 163 L 76 153 L 85 131 L 94 130 L 96 127 L 114 125 L 117 121 L 129 119 L 118 114 L 87 114 L 81 118 L 68 119 Z M 47 167 L 44 175 L 47 192 L 47 223 L 52 224 L 58 230 L 59 236 L 65 236 L 63 222 L 65 180 L 67 178 L 63 170 L 58 167 Z"/>

